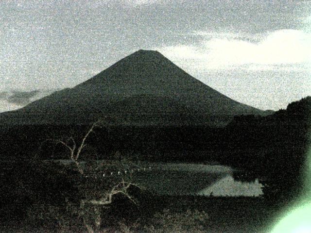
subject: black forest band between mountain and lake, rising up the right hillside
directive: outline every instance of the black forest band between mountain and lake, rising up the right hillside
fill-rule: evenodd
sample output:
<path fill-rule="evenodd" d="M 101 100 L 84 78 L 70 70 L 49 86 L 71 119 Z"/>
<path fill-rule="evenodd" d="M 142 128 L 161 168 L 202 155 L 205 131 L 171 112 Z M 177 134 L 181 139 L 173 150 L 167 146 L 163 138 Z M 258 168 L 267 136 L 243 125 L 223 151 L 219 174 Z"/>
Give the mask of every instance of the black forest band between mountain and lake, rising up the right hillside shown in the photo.
<path fill-rule="evenodd" d="M 81 159 L 218 162 L 264 177 L 289 189 L 301 186 L 310 136 L 311 97 L 270 116 L 236 116 L 224 128 L 208 126 L 103 126 L 87 139 Z M 69 151 L 50 139 L 82 140 L 88 125 L 28 125 L 2 131 L 1 158 L 67 159 Z M 285 188 L 286 186 L 286 188 Z M 291 186 L 291 187 L 289 187 Z M 279 194 L 277 194 L 279 195 Z"/>

